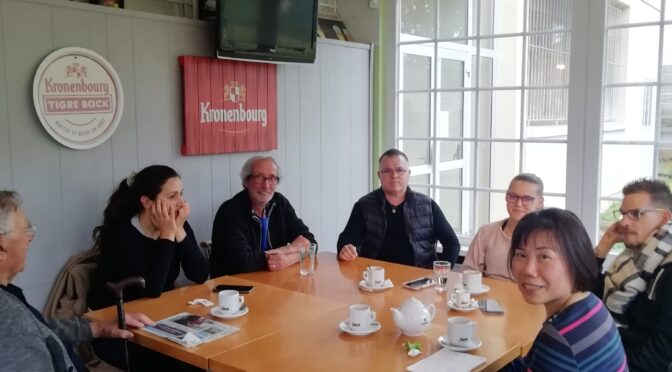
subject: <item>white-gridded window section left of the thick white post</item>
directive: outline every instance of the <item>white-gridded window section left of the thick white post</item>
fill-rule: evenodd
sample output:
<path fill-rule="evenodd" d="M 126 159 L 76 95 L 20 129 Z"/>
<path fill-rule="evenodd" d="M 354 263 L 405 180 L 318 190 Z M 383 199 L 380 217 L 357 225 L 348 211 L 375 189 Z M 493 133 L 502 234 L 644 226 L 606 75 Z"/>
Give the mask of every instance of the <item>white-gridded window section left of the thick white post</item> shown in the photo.
<path fill-rule="evenodd" d="M 398 146 L 411 187 L 472 235 L 513 176 L 565 206 L 571 0 L 400 0 Z"/>

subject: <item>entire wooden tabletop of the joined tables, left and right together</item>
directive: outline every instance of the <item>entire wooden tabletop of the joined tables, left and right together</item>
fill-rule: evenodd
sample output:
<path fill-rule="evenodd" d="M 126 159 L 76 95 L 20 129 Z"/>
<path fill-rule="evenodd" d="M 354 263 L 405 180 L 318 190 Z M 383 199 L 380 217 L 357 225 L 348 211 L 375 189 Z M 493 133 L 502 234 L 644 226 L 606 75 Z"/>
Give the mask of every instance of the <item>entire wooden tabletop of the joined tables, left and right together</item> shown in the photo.
<path fill-rule="evenodd" d="M 385 268 L 394 288 L 370 293 L 358 288 L 362 272 L 368 265 Z M 224 276 L 203 285 L 176 289 L 160 298 L 142 299 L 126 304 L 129 312 L 143 312 L 158 320 L 174 314 L 190 313 L 213 318 L 209 309 L 190 306 L 188 300 L 208 298 L 217 303 L 212 292 L 217 284 L 254 285 L 246 294 L 250 312 L 234 320 L 223 321 L 240 328 L 240 332 L 187 349 L 168 340 L 135 331 L 134 342 L 170 355 L 179 360 L 213 371 L 257 370 L 404 370 L 437 351 L 437 338 L 446 333 L 447 319 L 466 316 L 478 324 L 477 335 L 483 346 L 470 353 L 486 358 L 483 370 L 497 370 L 521 355 L 538 333 L 544 319 L 541 306 L 527 304 L 514 284 L 485 279 L 490 291 L 476 298 L 496 298 L 504 307 L 504 315 L 489 315 L 475 310 L 468 313 L 450 310 L 447 294 L 433 288 L 412 291 L 402 282 L 421 276 L 432 276 L 431 270 L 357 258 L 339 262 L 334 253 L 318 254 L 316 273 L 299 276 L 298 265 L 283 271 L 259 271 Z M 451 273 L 449 287 L 458 280 Z M 399 307 L 410 297 L 436 306 L 431 327 L 420 337 L 407 337 L 397 329 L 390 307 Z M 369 304 L 382 324 L 380 331 L 364 337 L 351 336 L 338 328 L 348 317 L 348 305 Z M 113 319 L 113 307 L 89 313 L 93 319 Z M 423 354 L 407 356 L 401 346 L 406 340 L 422 343 Z"/>

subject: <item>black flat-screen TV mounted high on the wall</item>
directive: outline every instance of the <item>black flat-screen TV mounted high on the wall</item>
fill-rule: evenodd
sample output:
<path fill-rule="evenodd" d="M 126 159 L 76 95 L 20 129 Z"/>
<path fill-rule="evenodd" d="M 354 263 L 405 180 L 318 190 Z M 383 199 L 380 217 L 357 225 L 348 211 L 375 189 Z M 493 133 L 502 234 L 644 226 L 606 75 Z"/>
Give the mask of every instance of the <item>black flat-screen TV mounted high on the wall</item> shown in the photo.
<path fill-rule="evenodd" d="M 217 57 L 315 61 L 318 0 L 218 0 Z"/>

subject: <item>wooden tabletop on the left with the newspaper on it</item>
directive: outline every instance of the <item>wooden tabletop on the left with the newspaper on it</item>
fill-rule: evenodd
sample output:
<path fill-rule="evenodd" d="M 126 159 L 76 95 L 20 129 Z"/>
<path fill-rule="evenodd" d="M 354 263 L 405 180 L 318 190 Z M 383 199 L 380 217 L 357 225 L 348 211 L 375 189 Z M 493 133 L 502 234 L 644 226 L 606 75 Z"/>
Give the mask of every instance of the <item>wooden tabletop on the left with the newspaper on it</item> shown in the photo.
<path fill-rule="evenodd" d="M 217 304 L 217 294 L 212 292 L 212 289 L 222 283 L 254 286 L 252 293 L 243 295 L 250 309 L 247 315 L 223 320 L 210 315 L 210 308 L 187 303 L 195 298 L 207 298 Z M 126 312 L 142 312 L 154 320 L 187 311 L 240 328 L 240 331 L 232 335 L 195 348 L 184 348 L 144 330 L 133 332 L 135 334 L 133 342 L 203 369 L 208 368 L 208 361 L 218 353 L 241 347 L 282 329 L 293 327 L 306 316 L 319 316 L 343 306 L 345 305 L 340 302 L 254 283 L 233 276 L 223 276 L 201 285 L 175 289 L 163 293 L 159 298 L 145 298 L 124 304 Z M 87 317 L 95 320 L 116 319 L 116 316 L 115 307 L 107 307 L 87 314 Z"/>

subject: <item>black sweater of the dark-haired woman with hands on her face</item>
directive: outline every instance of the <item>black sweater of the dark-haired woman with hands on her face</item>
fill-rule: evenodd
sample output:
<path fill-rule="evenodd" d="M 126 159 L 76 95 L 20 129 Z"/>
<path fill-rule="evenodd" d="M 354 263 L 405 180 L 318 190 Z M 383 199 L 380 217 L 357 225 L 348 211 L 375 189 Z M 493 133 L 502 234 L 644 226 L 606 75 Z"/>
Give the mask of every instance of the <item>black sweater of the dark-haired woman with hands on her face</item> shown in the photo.
<path fill-rule="evenodd" d="M 124 289 L 124 301 L 159 297 L 175 287 L 180 265 L 189 280 L 203 283 L 208 279 L 208 261 L 196 243 L 191 226 L 184 223 L 187 236 L 180 243 L 151 239 L 140 233 L 130 221 L 110 226 L 103 232 L 100 262 L 88 296 L 92 309 L 114 305 L 115 298 L 106 286 L 130 276 L 145 278 L 145 288 Z"/>

